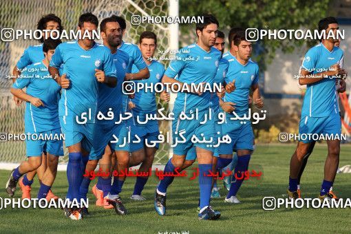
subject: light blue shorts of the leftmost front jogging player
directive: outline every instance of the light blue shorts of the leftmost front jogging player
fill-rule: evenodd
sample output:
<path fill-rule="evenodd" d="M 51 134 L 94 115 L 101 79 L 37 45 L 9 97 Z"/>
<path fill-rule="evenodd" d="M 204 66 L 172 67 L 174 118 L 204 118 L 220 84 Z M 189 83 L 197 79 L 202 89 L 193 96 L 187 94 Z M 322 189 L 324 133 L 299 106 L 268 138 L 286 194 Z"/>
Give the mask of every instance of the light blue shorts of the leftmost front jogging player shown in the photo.
<path fill-rule="evenodd" d="M 50 131 L 43 131 L 40 133 L 34 132 L 30 134 L 32 135 L 32 138 L 25 139 L 25 151 L 27 157 L 41 156 L 43 151 L 54 156 L 63 156 L 63 140 L 61 140 L 61 129 L 58 128 Z M 33 134 L 36 134 L 34 140 Z M 41 138 L 44 138 L 44 140 Z M 48 140 L 45 140 L 45 138 L 48 138 Z"/>

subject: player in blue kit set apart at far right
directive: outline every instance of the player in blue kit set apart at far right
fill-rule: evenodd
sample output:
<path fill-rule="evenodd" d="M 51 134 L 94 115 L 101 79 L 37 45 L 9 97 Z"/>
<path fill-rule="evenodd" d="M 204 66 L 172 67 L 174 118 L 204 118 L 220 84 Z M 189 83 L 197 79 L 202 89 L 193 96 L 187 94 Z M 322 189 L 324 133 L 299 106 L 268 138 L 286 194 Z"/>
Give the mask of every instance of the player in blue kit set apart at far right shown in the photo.
<path fill-rule="evenodd" d="M 336 35 L 339 25 L 334 17 L 321 19 L 318 23 L 319 32 L 326 30 L 326 35 L 332 30 Z M 335 76 L 344 71 L 339 63 L 343 59 L 343 51 L 335 47 L 337 39 L 322 39 L 321 43 L 312 47 L 306 53 L 301 65 L 299 84 L 307 85 L 304 103 L 302 105 L 299 134 L 332 134 L 340 136 L 341 118 L 337 110 Z M 317 72 L 317 70 L 324 70 Z M 327 140 L 328 156 L 324 167 L 324 179 L 319 193 L 319 199 L 331 200 L 330 187 L 334 181 L 339 164 L 340 140 Z M 297 149 L 290 160 L 290 176 L 288 196 L 299 198 L 297 193 L 297 178 L 303 158 L 308 153 L 311 140 L 299 140 Z"/>

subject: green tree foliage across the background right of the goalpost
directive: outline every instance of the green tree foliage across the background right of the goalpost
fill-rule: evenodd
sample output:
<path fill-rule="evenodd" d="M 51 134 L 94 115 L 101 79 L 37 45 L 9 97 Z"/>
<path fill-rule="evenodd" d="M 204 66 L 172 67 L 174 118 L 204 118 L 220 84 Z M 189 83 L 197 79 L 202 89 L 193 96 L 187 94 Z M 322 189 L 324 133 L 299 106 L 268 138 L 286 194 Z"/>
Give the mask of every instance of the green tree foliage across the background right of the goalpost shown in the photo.
<path fill-rule="evenodd" d="M 180 16 L 211 13 L 220 22 L 220 29 L 232 27 L 259 29 L 317 29 L 318 21 L 330 12 L 330 0 L 195 0 L 180 1 Z M 193 25 L 181 25 L 182 32 L 189 32 Z M 277 49 L 293 52 L 295 47 L 313 45 L 317 41 L 268 40 L 259 41 L 260 49 L 254 59 L 261 69 L 270 63 Z"/>

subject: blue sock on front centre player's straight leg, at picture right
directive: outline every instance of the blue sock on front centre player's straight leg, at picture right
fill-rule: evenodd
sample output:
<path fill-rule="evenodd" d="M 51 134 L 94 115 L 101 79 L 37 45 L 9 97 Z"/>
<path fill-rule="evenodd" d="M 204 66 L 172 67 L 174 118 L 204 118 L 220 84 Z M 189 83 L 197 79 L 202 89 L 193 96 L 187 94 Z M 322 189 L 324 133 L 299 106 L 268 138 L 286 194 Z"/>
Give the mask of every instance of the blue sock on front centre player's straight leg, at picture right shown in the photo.
<path fill-rule="evenodd" d="M 199 164 L 200 209 L 210 205 L 212 177 L 209 171 L 212 164 Z"/>

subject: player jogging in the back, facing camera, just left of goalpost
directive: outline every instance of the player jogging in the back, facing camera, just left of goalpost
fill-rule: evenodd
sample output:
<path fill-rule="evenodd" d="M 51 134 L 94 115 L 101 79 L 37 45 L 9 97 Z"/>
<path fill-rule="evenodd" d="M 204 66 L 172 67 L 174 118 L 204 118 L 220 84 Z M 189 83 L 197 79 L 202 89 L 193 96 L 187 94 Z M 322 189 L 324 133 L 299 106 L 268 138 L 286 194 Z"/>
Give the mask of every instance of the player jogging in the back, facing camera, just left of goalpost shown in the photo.
<path fill-rule="evenodd" d="M 150 31 L 145 31 L 140 34 L 139 48 L 142 53 L 142 58 L 144 59 L 147 67 L 149 68 L 150 77 L 146 80 L 136 81 L 136 83 L 145 83 L 146 86 L 152 85 L 156 87 L 158 83 L 161 83 L 161 79 L 164 74 L 164 66 L 158 61 L 151 60 L 157 47 L 157 37 L 156 34 Z M 133 66 L 132 72 L 138 72 L 136 66 Z M 129 167 L 134 167 L 140 163 L 140 172 L 149 172 L 152 167 L 153 158 L 159 147 L 157 143 L 154 147 L 149 147 L 145 145 L 145 141 L 151 144 L 153 140 L 158 140 L 158 121 L 148 120 L 147 123 L 141 124 L 139 121 L 145 121 L 145 118 L 149 114 L 156 114 L 156 92 L 151 92 L 150 90 L 142 90 L 142 92 L 137 92 L 134 99 L 129 102 L 131 107 L 131 112 L 134 118 L 134 124 L 131 125 L 131 136 L 137 135 L 140 138 L 139 143 L 132 143 L 130 145 L 131 159 L 129 161 Z M 132 138 L 132 140 L 136 140 Z M 138 176 L 136 178 L 136 184 L 134 186 L 133 194 L 131 195 L 131 200 L 146 200 L 142 195 L 142 189 L 144 189 L 145 184 L 149 176 Z"/>

